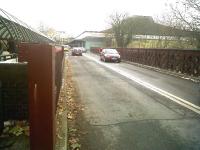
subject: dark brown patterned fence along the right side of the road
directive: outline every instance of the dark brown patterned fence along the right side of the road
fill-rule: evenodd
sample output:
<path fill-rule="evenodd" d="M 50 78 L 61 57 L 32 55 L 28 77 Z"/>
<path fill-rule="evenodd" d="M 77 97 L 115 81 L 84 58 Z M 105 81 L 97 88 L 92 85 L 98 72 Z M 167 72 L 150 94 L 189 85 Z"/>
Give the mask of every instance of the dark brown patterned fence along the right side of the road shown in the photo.
<path fill-rule="evenodd" d="M 100 48 L 91 52 L 99 53 Z M 121 58 L 139 64 L 200 76 L 200 50 L 117 48 Z"/>

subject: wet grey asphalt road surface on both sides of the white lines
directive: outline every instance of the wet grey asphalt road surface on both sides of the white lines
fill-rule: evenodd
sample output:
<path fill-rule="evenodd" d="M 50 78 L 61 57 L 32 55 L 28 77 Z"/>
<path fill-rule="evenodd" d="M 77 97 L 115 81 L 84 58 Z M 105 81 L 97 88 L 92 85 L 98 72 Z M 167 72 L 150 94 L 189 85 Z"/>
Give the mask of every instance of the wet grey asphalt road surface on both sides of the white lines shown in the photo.
<path fill-rule="evenodd" d="M 200 117 L 167 98 L 82 57 L 69 57 L 91 150 L 200 149 Z M 199 104 L 199 85 L 129 64 L 110 64 Z M 182 91 L 182 92 L 181 92 Z M 85 146 L 83 145 L 83 148 Z"/>

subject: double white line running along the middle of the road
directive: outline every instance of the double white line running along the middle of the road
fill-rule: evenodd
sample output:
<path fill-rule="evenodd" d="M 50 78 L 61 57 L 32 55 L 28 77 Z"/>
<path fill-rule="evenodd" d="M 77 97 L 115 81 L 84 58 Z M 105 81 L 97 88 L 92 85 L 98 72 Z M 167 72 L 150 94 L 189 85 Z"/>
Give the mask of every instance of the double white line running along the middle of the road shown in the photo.
<path fill-rule="evenodd" d="M 87 54 L 85 54 L 84 56 L 89 58 L 89 59 L 91 59 L 91 60 L 93 60 L 93 61 L 95 61 L 96 63 L 98 63 L 98 64 L 100 64 L 100 65 L 102 65 L 102 66 L 104 66 L 106 68 L 109 68 L 109 69 L 121 74 L 122 76 L 125 76 L 126 78 L 128 78 L 128 79 L 130 79 L 130 80 L 132 80 L 132 81 L 134 81 L 134 82 L 136 82 L 136 83 L 138 83 L 138 84 L 140 84 L 140 85 L 142 85 L 142 86 L 144 86 L 144 87 L 146 87 L 146 88 L 148 88 L 148 89 L 150 89 L 150 90 L 152 90 L 152 91 L 154 91 L 154 92 L 156 92 L 156 93 L 158 93 L 158 94 L 160 94 L 162 96 L 167 97 L 168 99 L 180 104 L 181 106 L 184 106 L 184 107 L 192 110 L 193 112 L 196 112 L 197 114 L 200 114 L 200 107 L 199 106 L 197 106 L 197 105 L 195 105 L 193 103 L 190 103 L 189 101 L 184 100 L 184 99 L 182 99 L 180 97 L 177 97 L 177 96 L 175 96 L 175 95 L 173 95 L 173 94 L 171 94 L 169 92 L 166 92 L 166 91 L 164 91 L 164 90 L 162 90 L 162 89 L 160 89 L 160 88 L 158 88 L 158 87 L 156 87 L 156 86 L 154 86 L 152 84 L 144 82 L 144 81 L 140 80 L 139 78 L 134 77 L 133 75 L 131 75 L 131 74 L 125 72 L 125 71 L 122 71 L 122 70 L 120 70 L 118 68 L 110 66 L 110 65 L 108 65 L 106 63 L 103 63 L 103 62 L 99 61 L 98 59 L 96 59 L 94 57 L 91 57 L 91 56 L 89 56 Z"/>

